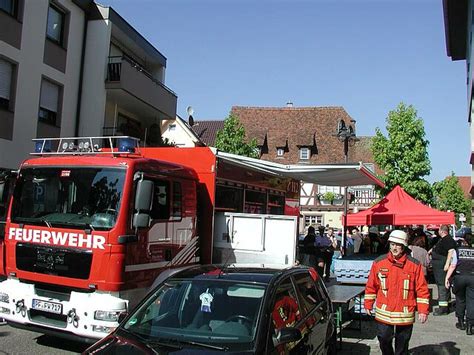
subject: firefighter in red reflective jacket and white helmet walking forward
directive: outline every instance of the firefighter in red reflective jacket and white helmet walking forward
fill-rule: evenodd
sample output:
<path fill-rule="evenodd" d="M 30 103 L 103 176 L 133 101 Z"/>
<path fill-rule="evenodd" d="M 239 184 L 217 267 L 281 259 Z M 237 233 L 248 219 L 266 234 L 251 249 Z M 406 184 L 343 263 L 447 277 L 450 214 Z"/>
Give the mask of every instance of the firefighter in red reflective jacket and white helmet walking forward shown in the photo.
<path fill-rule="evenodd" d="M 421 264 L 407 253 L 408 235 L 394 230 L 388 242 L 389 252 L 372 264 L 365 287 L 364 307 L 368 315 L 375 313 L 382 353 L 408 354 L 415 310 L 418 310 L 418 320 L 425 323 L 430 294 Z"/>

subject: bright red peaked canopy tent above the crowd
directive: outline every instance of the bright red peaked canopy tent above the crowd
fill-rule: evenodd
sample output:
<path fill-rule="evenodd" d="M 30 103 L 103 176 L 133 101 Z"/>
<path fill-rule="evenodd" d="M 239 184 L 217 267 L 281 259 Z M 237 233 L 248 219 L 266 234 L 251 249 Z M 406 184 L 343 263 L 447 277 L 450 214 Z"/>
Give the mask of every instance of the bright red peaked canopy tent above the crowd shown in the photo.
<path fill-rule="evenodd" d="M 454 212 L 442 212 L 425 206 L 400 186 L 396 186 L 372 208 L 347 215 L 348 226 L 454 223 Z"/>

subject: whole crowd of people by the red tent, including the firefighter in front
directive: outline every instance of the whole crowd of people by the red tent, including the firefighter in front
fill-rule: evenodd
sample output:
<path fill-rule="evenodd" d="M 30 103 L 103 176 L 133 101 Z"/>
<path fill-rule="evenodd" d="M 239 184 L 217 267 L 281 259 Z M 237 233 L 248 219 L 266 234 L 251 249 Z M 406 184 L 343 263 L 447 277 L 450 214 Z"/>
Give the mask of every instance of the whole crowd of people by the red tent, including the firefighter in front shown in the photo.
<path fill-rule="evenodd" d="M 451 292 L 456 296 L 455 327 L 474 333 L 474 238 L 452 237 L 447 225 L 434 233 L 422 228 L 364 226 L 347 231 L 345 243 L 327 226 L 310 226 L 300 262 L 312 266 L 324 280 L 329 279 L 335 251 L 345 255 L 380 255 L 370 270 L 365 290 L 365 310 L 375 315 L 377 337 L 383 354 L 405 354 L 411 337 L 415 312 L 426 322 L 430 295 L 428 282 L 438 289 L 434 316 L 449 314 Z M 395 340 L 395 347 L 393 347 Z"/>

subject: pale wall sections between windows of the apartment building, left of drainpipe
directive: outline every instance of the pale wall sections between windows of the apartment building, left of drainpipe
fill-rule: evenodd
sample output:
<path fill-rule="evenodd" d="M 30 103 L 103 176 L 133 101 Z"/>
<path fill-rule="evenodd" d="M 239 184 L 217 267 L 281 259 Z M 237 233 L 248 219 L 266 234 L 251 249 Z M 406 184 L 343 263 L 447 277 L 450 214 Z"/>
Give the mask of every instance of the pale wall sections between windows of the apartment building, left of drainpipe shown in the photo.
<path fill-rule="evenodd" d="M 0 55 L 16 64 L 12 140 L 0 138 L 0 167 L 14 169 L 33 150 L 37 138 L 38 110 L 42 78 L 62 86 L 60 103 L 61 135 L 74 133 L 80 63 L 84 31 L 84 12 L 70 0 L 57 3 L 69 12 L 65 72 L 44 63 L 48 0 L 25 0 L 23 6 L 21 49 L 0 41 Z M 13 78 L 15 80 L 15 78 Z M 31 142 L 31 143 L 30 143 Z"/>

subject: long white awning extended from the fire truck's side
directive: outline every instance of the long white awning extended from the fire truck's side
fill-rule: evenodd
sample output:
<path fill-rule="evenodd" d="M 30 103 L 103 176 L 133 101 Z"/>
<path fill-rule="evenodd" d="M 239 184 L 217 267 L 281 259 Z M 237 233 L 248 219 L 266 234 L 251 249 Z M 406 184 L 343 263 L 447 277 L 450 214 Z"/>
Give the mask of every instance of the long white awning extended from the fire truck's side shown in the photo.
<path fill-rule="evenodd" d="M 253 168 L 307 183 L 327 186 L 378 185 L 383 187 L 374 173 L 362 162 L 358 164 L 284 165 L 266 160 L 243 157 L 216 151 L 216 156 L 235 165 Z"/>

